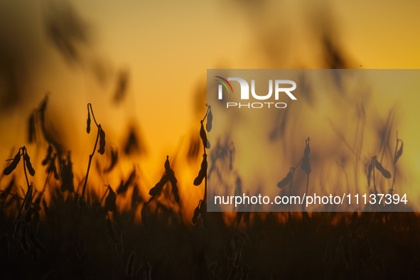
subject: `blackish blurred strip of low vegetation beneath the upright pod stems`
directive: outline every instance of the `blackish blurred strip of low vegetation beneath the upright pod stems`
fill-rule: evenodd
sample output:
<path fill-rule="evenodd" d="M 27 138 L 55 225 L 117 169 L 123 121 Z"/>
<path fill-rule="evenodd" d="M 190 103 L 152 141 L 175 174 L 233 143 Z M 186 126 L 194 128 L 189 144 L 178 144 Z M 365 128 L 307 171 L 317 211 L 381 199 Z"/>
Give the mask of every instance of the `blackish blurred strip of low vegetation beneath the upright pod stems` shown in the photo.
<path fill-rule="evenodd" d="M 2 198 L 1 207 L 9 200 Z M 420 220 L 414 213 L 323 212 L 290 219 L 260 213 L 231 225 L 222 214 L 209 213 L 211 226 L 205 230 L 201 222 L 184 225 L 178 213 L 155 206 L 148 213 L 148 230 L 130 212 L 109 215 L 93 195 L 80 205 L 60 190 L 50 205 L 34 203 L 18 225 L 16 215 L 3 211 L 1 279 L 399 279 L 418 274 Z M 45 212 L 41 219 L 39 208 Z"/>

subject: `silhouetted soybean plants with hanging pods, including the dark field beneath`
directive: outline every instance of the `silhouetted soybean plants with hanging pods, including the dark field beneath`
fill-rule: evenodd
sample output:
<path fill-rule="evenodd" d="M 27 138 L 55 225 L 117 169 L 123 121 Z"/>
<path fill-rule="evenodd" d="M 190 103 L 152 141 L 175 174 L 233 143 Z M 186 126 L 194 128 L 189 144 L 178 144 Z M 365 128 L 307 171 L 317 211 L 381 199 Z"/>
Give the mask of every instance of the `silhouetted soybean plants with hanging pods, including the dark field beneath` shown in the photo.
<path fill-rule="evenodd" d="M 44 100 L 31 114 L 31 137 L 34 131 L 43 131 L 46 106 Z M 99 161 L 107 155 L 111 158 L 103 173 L 119 163 L 118 152 L 107 147 L 106 126 L 97 122 L 91 104 L 87 111 L 87 133 L 92 119 L 97 133 L 80 182 L 75 182 L 70 151 L 61 151 L 59 144 L 45 136 L 48 149 L 41 170 L 34 170 L 29 157 L 33 151 L 25 146 L 7 160 L 0 178 L 0 183 L 6 181 L 0 194 L 1 279 L 360 279 L 417 273 L 420 219 L 415 213 L 237 212 L 232 214 L 235 222 L 230 222 L 227 214 L 207 212 L 210 106 L 198 130 L 203 161 L 191 182 L 191 188 L 204 183 L 205 191 L 192 221 L 183 218 L 181 203 L 188 188 L 178 192 L 174 158 L 166 157 L 161 180 L 149 190 L 149 198 L 139 195 L 135 169 L 117 188 L 95 185 L 95 180 L 89 183 L 94 156 Z M 308 192 L 309 142 L 306 139 L 301 161 L 279 182 L 279 188 L 293 188 L 294 171 L 300 165 Z M 372 157 L 367 181 L 372 179 L 375 190 L 375 177 L 395 178 L 402 146 L 397 139 L 393 174 L 377 156 Z M 375 175 L 375 169 L 381 175 Z M 30 181 L 42 172 L 47 176 L 38 190 Z M 24 187 L 16 183 L 18 176 L 24 176 Z M 119 197 L 129 198 L 129 210 L 119 206 Z"/>

